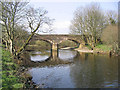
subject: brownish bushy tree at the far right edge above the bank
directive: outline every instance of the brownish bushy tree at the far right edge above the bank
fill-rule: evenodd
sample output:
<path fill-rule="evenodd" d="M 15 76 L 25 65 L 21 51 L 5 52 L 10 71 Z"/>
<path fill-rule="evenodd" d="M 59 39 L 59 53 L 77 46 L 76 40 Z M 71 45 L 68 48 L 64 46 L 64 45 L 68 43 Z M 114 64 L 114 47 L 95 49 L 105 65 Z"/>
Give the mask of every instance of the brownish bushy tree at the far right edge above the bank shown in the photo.
<path fill-rule="evenodd" d="M 106 13 L 107 27 L 102 32 L 101 40 L 104 44 L 111 45 L 118 51 L 118 14 L 115 11 Z"/>

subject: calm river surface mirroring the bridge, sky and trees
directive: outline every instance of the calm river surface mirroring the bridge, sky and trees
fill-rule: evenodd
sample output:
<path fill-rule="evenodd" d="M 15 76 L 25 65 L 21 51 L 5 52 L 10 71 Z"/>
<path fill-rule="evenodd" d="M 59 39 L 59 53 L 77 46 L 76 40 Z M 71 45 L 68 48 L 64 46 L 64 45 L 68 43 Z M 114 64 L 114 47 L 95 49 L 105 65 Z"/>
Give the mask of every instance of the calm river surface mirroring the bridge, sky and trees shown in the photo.
<path fill-rule="evenodd" d="M 118 87 L 118 57 L 46 50 L 31 52 L 29 58 L 27 73 L 40 88 Z"/>

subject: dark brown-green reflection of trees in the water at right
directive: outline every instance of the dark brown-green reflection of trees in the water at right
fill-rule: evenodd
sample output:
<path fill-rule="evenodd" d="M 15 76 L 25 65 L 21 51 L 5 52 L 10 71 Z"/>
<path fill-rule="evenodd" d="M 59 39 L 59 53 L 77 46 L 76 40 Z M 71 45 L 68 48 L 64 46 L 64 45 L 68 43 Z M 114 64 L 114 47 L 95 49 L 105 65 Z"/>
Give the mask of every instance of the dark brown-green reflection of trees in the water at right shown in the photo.
<path fill-rule="evenodd" d="M 77 88 L 104 87 L 117 80 L 117 58 L 93 54 L 81 54 L 75 65 L 71 66 L 71 78 Z M 117 86 L 117 84 L 116 84 Z"/>

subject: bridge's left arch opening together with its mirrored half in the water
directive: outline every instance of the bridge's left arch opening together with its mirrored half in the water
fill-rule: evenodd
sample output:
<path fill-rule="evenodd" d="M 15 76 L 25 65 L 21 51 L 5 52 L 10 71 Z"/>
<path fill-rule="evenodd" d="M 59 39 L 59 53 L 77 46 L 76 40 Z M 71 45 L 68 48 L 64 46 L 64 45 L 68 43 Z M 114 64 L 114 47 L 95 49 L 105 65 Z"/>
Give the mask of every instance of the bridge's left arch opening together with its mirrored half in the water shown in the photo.
<path fill-rule="evenodd" d="M 28 46 L 30 51 L 30 60 L 44 62 L 51 56 L 51 43 L 47 40 L 32 40 Z"/>

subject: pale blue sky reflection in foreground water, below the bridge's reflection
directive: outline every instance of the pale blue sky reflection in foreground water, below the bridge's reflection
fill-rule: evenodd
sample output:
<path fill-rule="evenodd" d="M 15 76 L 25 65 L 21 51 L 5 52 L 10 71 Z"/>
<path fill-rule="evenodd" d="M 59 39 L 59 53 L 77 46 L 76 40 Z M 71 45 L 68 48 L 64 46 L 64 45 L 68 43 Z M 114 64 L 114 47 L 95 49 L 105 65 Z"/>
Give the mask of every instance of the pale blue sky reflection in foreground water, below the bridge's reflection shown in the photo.
<path fill-rule="evenodd" d="M 64 73 L 63 73 L 64 70 Z M 32 68 L 29 73 L 33 81 L 42 88 L 74 87 L 69 75 L 69 66 Z"/>

